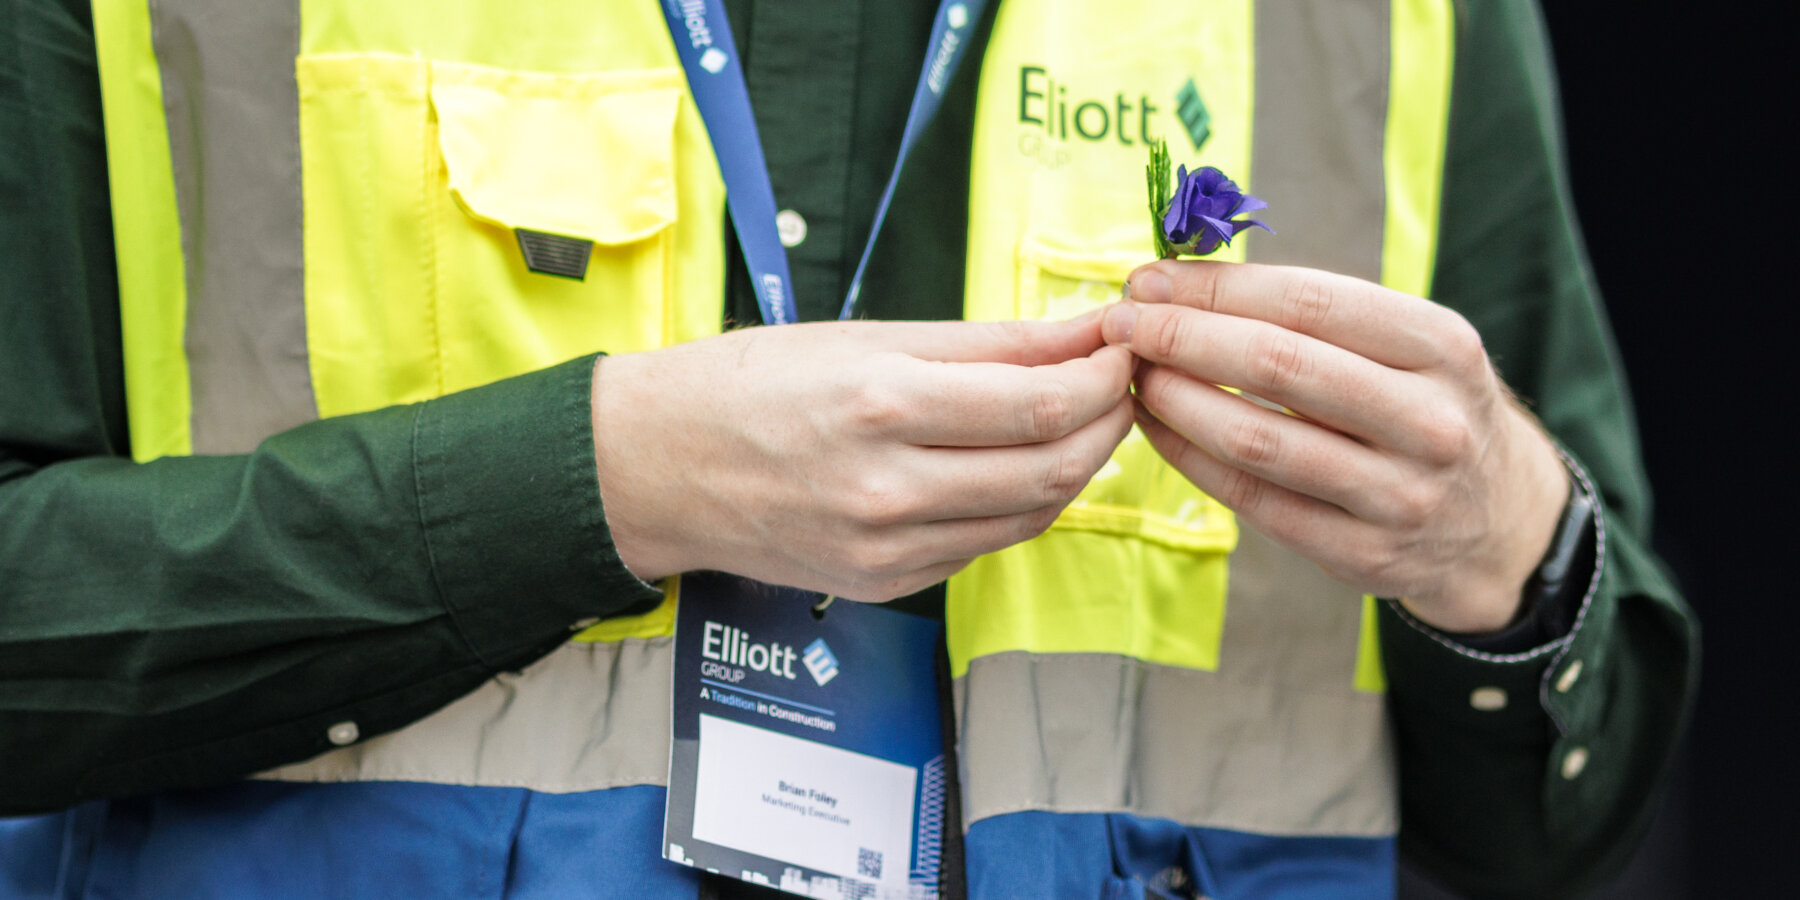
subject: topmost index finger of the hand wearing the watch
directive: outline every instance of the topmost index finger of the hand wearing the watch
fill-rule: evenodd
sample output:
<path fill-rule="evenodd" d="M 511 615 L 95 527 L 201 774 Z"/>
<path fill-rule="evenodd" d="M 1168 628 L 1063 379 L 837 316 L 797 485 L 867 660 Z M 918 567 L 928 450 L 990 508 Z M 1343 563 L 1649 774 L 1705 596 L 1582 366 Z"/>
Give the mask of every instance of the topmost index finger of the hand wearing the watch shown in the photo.
<path fill-rule="evenodd" d="M 1350 275 L 1247 263 L 1159 261 L 1132 274 L 1130 299 L 1255 319 L 1397 369 L 1485 362 L 1454 311 Z"/>

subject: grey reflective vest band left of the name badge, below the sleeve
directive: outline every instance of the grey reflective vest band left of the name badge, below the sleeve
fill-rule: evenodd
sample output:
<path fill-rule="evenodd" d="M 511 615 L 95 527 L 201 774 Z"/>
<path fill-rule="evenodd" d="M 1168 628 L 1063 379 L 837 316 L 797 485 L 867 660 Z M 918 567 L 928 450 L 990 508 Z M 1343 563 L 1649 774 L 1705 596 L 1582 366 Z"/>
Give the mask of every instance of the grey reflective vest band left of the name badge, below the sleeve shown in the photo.
<path fill-rule="evenodd" d="M 673 637 L 571 641 L 392 734 L 257 778 L 529 787 L 551 794 L 664 785 L 673 655 Z"/>

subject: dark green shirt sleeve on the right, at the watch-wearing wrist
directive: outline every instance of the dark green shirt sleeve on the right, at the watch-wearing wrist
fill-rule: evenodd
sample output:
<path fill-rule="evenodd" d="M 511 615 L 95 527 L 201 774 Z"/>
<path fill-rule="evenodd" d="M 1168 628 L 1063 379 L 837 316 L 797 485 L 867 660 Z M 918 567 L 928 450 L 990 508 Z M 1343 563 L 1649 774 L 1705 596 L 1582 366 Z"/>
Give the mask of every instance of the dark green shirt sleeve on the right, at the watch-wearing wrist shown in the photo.
<path fill-rule="evenodd" d="M 1634 850 L 1692 706 L 1699 635 L 1647 549 L 1649 486 L 1575 225 L 1537 7 L 1460 11 L 1433 293 L 1591 473 L 1598 580 L 1570 635 L 1528 653 L 1478 653 L 1386 610 L 1400 850 L 1474 896 L 1557 896 Z M 1507 706 L 1476 709 L 1478 688 Z"/>

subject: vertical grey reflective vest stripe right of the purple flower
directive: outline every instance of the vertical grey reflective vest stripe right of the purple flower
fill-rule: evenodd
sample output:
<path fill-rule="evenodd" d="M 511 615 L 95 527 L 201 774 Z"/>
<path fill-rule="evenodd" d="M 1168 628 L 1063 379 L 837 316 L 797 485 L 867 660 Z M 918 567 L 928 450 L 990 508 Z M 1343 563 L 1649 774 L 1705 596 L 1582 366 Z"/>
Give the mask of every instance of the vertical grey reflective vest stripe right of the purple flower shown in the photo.
<path fill-rule="evenodd" d="M 1390 0 L 1258 0 L 1251 263 L 1381 279 Z"/>

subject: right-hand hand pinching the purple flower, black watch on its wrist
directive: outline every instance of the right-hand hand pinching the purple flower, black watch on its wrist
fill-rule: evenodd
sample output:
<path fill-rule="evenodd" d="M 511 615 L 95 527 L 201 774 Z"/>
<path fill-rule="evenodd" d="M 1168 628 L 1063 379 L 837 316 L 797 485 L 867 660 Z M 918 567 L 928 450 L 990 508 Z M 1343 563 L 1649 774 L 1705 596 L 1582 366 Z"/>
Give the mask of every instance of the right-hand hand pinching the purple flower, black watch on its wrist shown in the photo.
<path fill-rule="evenodd" d="M 1469 320 L 1348 275 L 1159 261 L 1103 333 L 1145 360 L 1150 443 L 1258 531 L 1436 628 L 1516 617 L 1568 473 Z"/>

